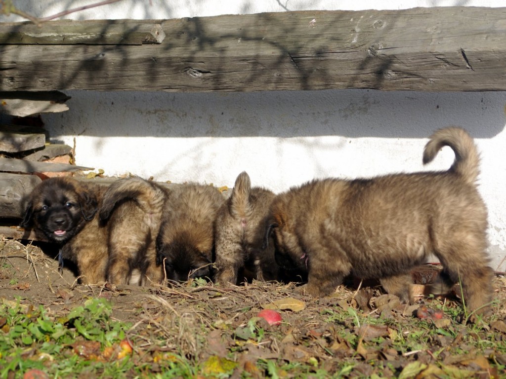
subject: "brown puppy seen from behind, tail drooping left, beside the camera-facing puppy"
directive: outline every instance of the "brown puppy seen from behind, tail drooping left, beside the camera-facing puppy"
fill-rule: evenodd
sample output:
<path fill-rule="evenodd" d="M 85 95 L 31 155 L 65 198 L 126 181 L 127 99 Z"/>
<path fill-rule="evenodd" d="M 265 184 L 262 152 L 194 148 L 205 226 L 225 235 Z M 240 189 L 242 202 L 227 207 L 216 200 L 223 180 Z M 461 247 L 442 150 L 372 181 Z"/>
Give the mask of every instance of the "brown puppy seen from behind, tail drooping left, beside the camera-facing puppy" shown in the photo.
<path fill-rule="evenodd" d="M 117 180 L 107 189 L 100 220 L 109 230 L 109 282 L 142 286 L 163 279 L 155 241 L 167 191 L 139 177 Z"/>

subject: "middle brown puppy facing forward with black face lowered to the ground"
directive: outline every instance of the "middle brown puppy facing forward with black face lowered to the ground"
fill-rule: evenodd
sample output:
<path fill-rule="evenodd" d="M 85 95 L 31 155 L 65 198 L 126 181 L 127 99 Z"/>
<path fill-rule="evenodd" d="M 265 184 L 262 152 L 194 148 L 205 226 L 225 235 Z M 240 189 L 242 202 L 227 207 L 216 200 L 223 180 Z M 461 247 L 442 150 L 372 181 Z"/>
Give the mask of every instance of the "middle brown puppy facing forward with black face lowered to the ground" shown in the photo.
<path fill-rule="evenodd" d="M 171 191 L 156 240 L 157 263 L 164 264 L 169 281 L 212 278 L 215 222 L 224 202 L 209 185 L 185 184 Z"/>

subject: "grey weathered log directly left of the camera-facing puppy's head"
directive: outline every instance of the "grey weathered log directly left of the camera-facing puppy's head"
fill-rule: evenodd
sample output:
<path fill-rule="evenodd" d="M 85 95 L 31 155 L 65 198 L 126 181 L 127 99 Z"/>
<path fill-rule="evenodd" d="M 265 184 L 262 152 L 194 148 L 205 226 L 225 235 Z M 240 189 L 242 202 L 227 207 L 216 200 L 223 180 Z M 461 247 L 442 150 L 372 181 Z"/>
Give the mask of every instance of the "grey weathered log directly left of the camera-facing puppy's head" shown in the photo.
<path fill-rule="evenodd" d="M 36 175 L 0 173 L 0 217 L 21 218 L 22 199 L 40 182 Z"/>

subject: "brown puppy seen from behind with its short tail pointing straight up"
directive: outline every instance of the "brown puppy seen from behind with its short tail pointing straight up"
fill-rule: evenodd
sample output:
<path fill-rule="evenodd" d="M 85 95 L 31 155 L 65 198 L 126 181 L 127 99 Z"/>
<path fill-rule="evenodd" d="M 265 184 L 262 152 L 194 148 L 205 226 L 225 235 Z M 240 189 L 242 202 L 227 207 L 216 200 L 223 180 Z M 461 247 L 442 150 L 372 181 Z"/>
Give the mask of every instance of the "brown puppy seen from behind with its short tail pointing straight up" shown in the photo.
<path fill-rule="evenodd" d="M 232 195 L 220 208 L 216 221 L 216 281 L 238 284 L 245 278 L 279 279 L 274 245 L 262 249 L 274 196 L 268 189 L 251 188 L 246 172 L 237 176 Z"/>

